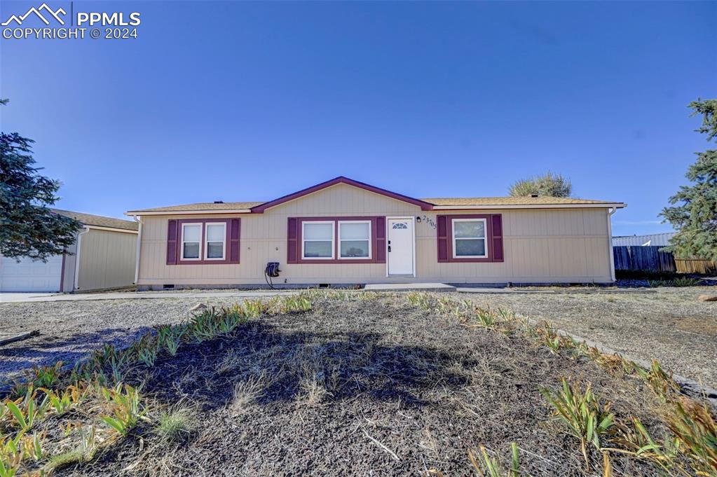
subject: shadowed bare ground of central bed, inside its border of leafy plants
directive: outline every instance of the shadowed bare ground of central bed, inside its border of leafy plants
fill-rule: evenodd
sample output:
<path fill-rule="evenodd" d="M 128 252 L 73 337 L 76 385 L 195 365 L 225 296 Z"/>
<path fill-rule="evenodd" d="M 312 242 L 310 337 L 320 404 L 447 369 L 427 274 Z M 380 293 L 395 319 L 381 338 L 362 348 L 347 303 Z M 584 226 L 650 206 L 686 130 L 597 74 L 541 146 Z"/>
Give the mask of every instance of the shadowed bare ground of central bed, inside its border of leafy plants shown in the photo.
<path fill-rule="evenodd" d="M 538 390 L 561 377 L 592 382 L 618 418 L 664 432 L 642 382 L 551 355 L 517 332 L 467 328 L 403 296 L 318 302 L 136 367 L 129 381 L 144 395 L 191 410 L 190 435 L 163 443 L 146 424 L 57 475 L 462 476 L 473 475 L 467 449 L 485 445 L 509 461 L 513 441 L 525 475 L 585 475 L 578 441 Z M 612 465 L 616 476 L 655 475 L 617 454 Z"/>

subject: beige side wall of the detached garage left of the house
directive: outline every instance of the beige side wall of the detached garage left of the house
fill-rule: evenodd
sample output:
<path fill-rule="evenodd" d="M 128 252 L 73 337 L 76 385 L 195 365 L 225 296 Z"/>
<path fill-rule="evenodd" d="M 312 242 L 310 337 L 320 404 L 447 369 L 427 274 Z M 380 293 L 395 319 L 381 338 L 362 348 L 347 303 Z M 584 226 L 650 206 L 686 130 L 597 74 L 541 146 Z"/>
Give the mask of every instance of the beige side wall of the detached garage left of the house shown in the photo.
<path fill-rule="evenodd" d="M 134 281 L 137 234 L 90 228 L 80 236 L 79 271 L 76 291 L 129 286 Z M 70 257 L 66 257 L 70 259 Z M 73 264 L 74 265 L 74 264 Z M 65 266 L 74 271 L 74 266 Z M 74 276 L 66 284 L 72 284 Z M 65 286 L 67 291 L 70 290 Z"/>

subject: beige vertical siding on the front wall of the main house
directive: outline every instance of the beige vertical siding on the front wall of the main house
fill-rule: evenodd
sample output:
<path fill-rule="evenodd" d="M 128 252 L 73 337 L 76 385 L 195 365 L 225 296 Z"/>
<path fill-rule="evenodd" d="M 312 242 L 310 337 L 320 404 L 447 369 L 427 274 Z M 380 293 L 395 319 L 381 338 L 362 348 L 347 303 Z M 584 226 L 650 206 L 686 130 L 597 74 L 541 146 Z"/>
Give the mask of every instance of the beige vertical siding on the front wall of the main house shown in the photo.
<path fill-rule="evenodd" d="M 501 213 L 505 261 L 438 263 L 436 217 L 451 213 Z M 609 282 L 610 237 L 607 208 L 421 211 L 376 193 L 338 184 L 263 214 L 241 217 L 240 264 L 166 265 L 168 216 L 142 217 L 138 285 L 264 284 L 268 261 L 278 261 L 282 284 L 355 284 L 386 281 L 450 283 Z M 386 264 L 286 264 L 287 218 L 298 216 L 412 216 L 416 277 L 386 277 Z M 171 216 L 171 218 L 198 218 Z"/>

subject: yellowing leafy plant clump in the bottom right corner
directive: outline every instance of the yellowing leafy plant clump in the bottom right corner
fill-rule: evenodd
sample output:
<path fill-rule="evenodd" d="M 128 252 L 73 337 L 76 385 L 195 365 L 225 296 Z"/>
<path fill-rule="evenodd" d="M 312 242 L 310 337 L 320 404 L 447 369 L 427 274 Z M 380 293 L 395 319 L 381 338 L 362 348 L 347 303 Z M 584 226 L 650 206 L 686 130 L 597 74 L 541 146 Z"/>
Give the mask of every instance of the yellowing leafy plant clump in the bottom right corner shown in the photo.
<path fill-rule="evenodd" d="M 680 397 L 666 418 L 695 473 L 716 477 L 717 424 L 710 411 L 694 400 Z"/>

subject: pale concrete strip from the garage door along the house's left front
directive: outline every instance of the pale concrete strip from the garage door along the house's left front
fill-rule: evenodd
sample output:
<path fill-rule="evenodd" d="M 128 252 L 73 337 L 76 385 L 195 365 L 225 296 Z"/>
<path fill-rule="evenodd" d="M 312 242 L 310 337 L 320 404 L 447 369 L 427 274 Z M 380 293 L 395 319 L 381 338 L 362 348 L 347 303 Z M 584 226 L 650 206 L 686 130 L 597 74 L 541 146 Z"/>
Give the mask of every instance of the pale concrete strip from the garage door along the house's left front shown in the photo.
<path fill-rule="evenodd" d="M 0 293 L 1 303 L 79 302 L 82 300 L 130 300 L 143 298 L 256 298 L 294 294 L 295 290 L 257 291 L 126 291 L 110 293 Z"/>

